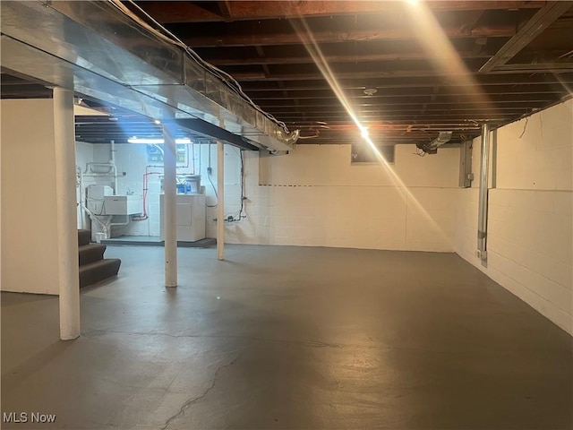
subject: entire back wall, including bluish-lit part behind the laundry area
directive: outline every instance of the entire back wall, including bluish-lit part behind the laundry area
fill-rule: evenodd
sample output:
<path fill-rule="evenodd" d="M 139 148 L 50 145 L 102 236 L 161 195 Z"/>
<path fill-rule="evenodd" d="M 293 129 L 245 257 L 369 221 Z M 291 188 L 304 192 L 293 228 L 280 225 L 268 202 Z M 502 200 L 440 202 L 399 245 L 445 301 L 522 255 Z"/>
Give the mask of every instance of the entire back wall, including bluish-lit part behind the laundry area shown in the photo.
<path fill-rule="evenodd" d="M 141 193 L 148 164 L 145 145 L 115 148 L 117 168 L 126 172 L 118 181 L 119 193 Z M 214 237 L 217 145 L 189 149 L 189 165 L 178 173 L 201 174 L 211 206 L 206 232 Z M 109 145 L 94 145 L 96 161 L 107 161 L 108 154 Z M 260 158 L 252 151 L 243 155 L 246 218 L 226 223 L 227 243 L 454 251 L 458 149 L 440 149 L 437 155 L 421 158 L 413 145 L 397 146 L 390 169 L 403 184 L 381 165 L 351 165 L 349 145 L 299 145 L 284 156 Z M 230 145 L 225 146 L 225 170 L 226 218 L 238 217 L 241 159 Z M 150 171 L 163 172 L 160 167 Z M 159 235 L 159 176 L 149 177 L 150 219 L 116 227 L 115 236 Z"/>

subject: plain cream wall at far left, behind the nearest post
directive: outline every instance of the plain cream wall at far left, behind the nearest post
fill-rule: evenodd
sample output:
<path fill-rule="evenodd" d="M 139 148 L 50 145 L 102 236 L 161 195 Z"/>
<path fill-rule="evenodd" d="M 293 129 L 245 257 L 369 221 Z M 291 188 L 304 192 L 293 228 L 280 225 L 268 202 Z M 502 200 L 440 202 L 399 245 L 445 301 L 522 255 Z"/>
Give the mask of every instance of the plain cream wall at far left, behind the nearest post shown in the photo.
<path fill-rule="evenodd" d="M 2 290 L 58 294 L 52 100 L 1 104 Z"/>

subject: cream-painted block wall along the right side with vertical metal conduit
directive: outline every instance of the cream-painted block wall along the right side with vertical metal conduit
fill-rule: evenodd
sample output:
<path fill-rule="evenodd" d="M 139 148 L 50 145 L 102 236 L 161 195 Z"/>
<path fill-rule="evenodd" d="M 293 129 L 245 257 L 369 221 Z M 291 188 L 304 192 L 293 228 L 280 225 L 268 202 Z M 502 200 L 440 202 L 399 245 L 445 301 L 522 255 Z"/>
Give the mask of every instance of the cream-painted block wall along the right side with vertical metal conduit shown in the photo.
<path fill-rule="evenodd" d="M 458 193 L 456 252 L 573 334 L 573 100 L 498 131 L 486 266 L 475 256 L 479 142 L 474 186 Z"/>

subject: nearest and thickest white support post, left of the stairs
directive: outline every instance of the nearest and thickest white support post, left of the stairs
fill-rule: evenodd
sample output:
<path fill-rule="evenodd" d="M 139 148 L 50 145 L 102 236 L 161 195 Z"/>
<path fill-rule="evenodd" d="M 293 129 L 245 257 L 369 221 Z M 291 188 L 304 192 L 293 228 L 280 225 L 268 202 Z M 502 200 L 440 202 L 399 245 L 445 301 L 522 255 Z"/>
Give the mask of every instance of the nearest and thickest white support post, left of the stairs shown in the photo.
<path fill-rule="evenodd" d="M 56 150 L 57 272 L 60 339 L 80 336 L 80 279 L 75 202 L 75 129 L 73 91 L 54 89 Z"/>

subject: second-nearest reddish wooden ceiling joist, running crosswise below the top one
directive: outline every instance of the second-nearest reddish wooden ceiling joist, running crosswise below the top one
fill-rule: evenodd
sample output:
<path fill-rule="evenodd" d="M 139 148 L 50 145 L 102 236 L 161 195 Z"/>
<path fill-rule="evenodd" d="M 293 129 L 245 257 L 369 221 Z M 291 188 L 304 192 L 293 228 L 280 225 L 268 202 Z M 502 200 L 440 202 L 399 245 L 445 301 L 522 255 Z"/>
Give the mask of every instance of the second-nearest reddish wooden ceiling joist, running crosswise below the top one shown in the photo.
<path fill-rule="evenodd" d="M 270 2 L 272 3 L 272 2 Z M 469 34 L 461 30 L 458 25 L 449 25 L 443 29 L 444 35 L 449 39 L 459 38 L 510 38 L 516 34 L 515 26 L 510 24 L 481 25 L 471 30 Z M 348 31 L 318 31 L 312 34 L 316 43 L 333 42 L 365 42 L 372 40 L 411 40 L 415 39 L 415 32 L 405 26 L 386 27 L 375 30 L 348 30 Z M 279 34 L 241 34 L 233 33 L 217 36 L 182 36 L 184 43 L 189 47 L 249 47 L 266 45 L 298 45 L 310 43 L 311 40 L 304 34 L 297 34 L 294 30 Z"/>

